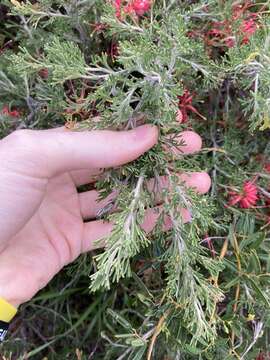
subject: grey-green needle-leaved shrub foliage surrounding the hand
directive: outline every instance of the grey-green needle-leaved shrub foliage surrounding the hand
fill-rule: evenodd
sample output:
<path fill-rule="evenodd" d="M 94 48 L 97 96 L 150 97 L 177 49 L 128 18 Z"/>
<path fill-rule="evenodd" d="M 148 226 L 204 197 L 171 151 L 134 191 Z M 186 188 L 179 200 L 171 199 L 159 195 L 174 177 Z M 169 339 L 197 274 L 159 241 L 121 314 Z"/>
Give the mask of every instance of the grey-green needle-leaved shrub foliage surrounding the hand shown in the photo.
<path fill-rule="evenodd" d="M 63 272 L 33 299 L 20 319 L 25 316 L 31 339 L 26 343 L 14 329 L 7 353 L 74 358 L 78 347 L 82 359 L 253 360 L 267 350 L 270 9 L 252 1 L 248 15 L 238 16 L 237 4 L 157 0 L 146 16 L 122 19 L 109 1 L 0 5 L 0 107 L 21 111 L 20 118 L 1 113 L 1 136 L 66 120 L 76 121 L 78 131 L 142 123 L 160 130 L 151 151 L 107 170 L 95 184 L 101 198 L 117 192 L 100 213 L 114 222 L 105 249 L 78 259 L 69 275 Z M 240 26 L 250 13 L 258 14 L 257 28 L 243 43 Z M 234 18 L 226 36 L 236 46 L 209 34 Z M 175 115 L 185 89 L 196 111 L 189 108 L 188 122 L 180 124 Z M 191 128 L 204 140 L 201 153 L 164 151 L 175 148 L 175 133 Z M 176 176 L 202 170 L 212 178 L 208 196 L 186 189 Z M 160 175 L 170 186 L 161 191 L 157 224 L 146 233 L 140 225 L 157 205 L 147 183 L 158 184 Z M 248 180 L 257 183 L 258 207 L 227 206 L 230 192 Z M 192 221 L 183 224 L 179 209 L 190 211 Z M 164 231 L 168 218 L 172 228 Z M 40 321 L 36 328 L 33 312 L 54 318 L 55 329 L 45 323 L 45 331 Z"/>

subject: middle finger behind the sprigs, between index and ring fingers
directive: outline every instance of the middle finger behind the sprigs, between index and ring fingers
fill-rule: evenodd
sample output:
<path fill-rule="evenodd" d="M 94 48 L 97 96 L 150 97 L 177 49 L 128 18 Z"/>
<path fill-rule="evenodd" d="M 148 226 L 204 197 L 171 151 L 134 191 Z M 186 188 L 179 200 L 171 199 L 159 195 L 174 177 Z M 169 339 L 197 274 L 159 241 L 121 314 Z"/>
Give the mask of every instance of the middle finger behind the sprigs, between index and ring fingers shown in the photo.
<path fill-rule="evenodd" d="M 211 179 L 205 172 L 184 173 L 178 175 L 187 187 L 193 188 L 196 192 L 205 194 L 211 186 Z M 158 183 L 154 179 L 147 182 L 149 192 L 155 193 L 155 203 L 162 201 L 162 190 L 169 187 L 167 176 L 160 176 Z M 84 219 L 94 219 L 102 209 L 112 210 L 112 200 L 116 197 L 116 192 L 110 194 L 106 199 L 99 200 L 99 193 L 96 190 L 86 191 L 79 194 L 81 214 Z"/>

